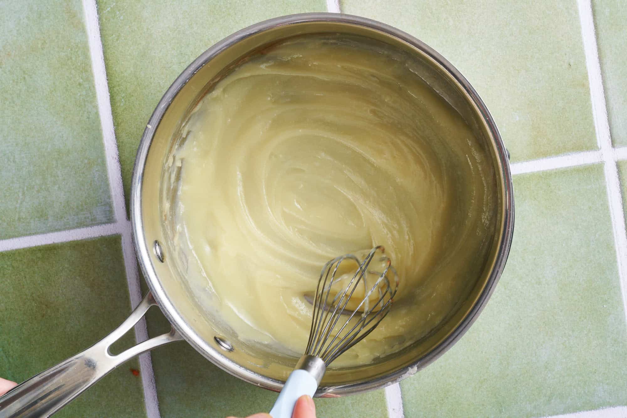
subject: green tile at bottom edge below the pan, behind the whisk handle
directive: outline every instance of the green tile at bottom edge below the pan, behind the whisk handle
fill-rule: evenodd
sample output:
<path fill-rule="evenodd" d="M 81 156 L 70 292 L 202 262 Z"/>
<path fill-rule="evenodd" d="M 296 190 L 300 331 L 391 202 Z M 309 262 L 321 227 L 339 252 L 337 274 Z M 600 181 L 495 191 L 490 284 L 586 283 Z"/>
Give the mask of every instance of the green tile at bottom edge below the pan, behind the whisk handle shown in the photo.
<path fill-rule="evenodd" d="M 142 282 L 144 293 L 147 286 Z M 151 337 L 170 330 L 159 309 L 147 313 Z M 245 417 L 271 409 L 277 394 L 229 375 L 206 360 L 185 342 L 152 351 L 162 417 Z M 317 415 L 325 417 L 387 417 L 383 390 L 342 398 L 315 399 Z"/>

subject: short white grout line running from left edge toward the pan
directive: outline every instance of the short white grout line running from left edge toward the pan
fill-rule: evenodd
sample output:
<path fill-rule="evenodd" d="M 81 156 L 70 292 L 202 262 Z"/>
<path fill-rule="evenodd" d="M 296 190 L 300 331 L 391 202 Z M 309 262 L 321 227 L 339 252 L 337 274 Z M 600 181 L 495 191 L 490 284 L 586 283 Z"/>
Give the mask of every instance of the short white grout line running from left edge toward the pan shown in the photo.
<path fill-rule="evenodd" d="M 59 232 L 40 233 L 27 237 L 8 238 L 0 240 L 0 252 L 18 250 L 21 248 L 37 247 L 38 245 L 56 244 L 89 238 L 105 237 L 121 233 L 119 223 L 105 223 L 93 227 L 76 228 Z"/>

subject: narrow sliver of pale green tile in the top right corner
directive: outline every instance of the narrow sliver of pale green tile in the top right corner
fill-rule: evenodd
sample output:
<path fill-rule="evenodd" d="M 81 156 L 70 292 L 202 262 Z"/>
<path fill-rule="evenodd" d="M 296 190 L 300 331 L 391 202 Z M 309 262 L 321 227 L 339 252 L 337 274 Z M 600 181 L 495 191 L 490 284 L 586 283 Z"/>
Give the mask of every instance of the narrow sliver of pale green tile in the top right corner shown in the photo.
<path fill-rule="evenodd" d="M 627 145 L 627 8 L 624 0 L 593 0 L 592 5 L 612 141 Z"/>

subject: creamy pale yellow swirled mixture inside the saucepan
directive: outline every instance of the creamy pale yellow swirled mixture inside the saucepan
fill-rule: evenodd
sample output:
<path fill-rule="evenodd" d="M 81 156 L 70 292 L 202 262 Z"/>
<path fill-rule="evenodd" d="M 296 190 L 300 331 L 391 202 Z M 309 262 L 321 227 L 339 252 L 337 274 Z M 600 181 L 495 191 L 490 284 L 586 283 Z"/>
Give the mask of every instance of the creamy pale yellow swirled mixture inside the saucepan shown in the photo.
<path fill-rule="evenodd" d="M 495 180 L 461 116 L 412 58 L 295 38 L 234 68 L 184 126 L 177 222 L 220 316 L 300 356 L 320 269 L 384 245 L 401 282 L 389 315 L 335 365 L 433 330 L 468 295 L 493 236 Z"/>

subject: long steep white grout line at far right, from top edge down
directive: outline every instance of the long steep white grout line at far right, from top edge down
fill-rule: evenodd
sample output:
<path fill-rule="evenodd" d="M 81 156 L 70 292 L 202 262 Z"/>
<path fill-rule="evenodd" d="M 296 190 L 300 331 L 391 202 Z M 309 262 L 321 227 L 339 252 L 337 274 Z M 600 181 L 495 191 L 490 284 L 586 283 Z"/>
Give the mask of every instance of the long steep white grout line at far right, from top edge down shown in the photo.
<path fill-rule="evenodd" d="M 586 67 L 590 83 L 590 98 L 594 118 L 596 139 L 601 148 L 603 158 L 603 171 L 605 173 L 606 188 L 608 191 L 609 215 L 612 220 L 614 233 L 614 246 L 616 247 L 616 259 L 618 262 L 618 278 L 623 296 L 623 309 L 627 316 L 627 233 L 625 232 L 625 220 L 623 212 L 623 199 L 621 197 L 618 169 L 616 167 L 616 154 L 612 148 L 612 140 L 609 134 L 608 111 L 603 92 L 603 80 L 601 78 L 601 63 L 594 32 L 594 18 L 590 0 L 577 0 L 579 8 L 579 21 L 581 22 L 581 34 L 586 55 Z"/>

